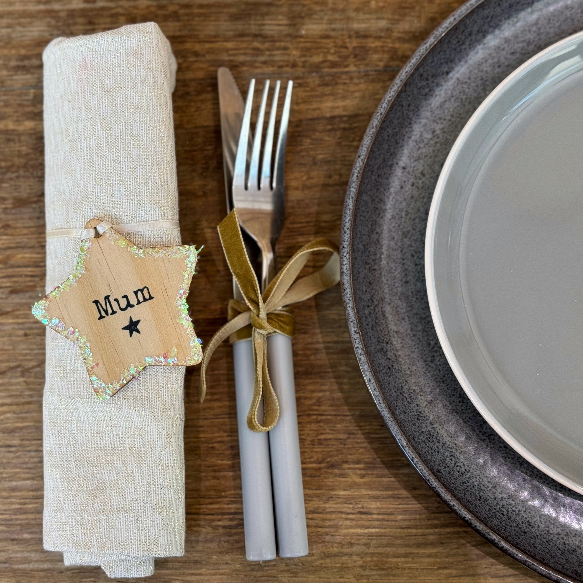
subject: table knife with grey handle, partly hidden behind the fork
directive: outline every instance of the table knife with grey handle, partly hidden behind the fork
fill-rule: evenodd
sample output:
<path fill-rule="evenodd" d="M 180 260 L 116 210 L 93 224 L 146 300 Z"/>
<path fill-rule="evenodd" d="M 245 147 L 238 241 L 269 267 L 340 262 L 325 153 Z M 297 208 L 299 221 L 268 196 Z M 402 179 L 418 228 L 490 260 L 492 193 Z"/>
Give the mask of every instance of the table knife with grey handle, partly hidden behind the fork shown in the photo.
<path fill-rule="evenodd" d="M 219 84 L 224 187 L 227 213 L 229 213 L 233 208 L 233 168 L 245 105 L 229 69 L 221 67 L 217 71 L 217 82 Z M 248 255 L 255 259 L 255 266 L 257 266 L 257 247 L 246 233 L 244 240 Z M 255 270 L 257 272 L 257 267 Z M 234 278 L 233 297 L 243 300 Z M 233 366 L 241 462 L 245 555 L 249 561 L 266 561 L 276 557 L 271 464 L 268 434 L 254 433 L 247 427 L 247 412 L 251 405 L 255 381 L 251 339 L 241 340 L 233 344 Z M 259 412 L 259 415 L 262 416 L 262 411 Z"/>

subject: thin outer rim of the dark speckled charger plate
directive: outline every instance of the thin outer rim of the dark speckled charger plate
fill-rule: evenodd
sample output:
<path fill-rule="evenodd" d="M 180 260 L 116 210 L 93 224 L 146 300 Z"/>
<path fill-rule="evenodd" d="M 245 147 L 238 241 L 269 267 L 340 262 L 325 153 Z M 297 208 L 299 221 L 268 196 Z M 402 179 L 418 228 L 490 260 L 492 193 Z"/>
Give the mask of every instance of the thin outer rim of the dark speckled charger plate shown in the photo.
<path fill-rule="evenodd" d="M 405 437 L 405 434 L 403 434 L 396 417 L 382 395 L 380 383 L 377 381 L 370 361 L 368 360 L 366 347 L 360 331 L 356 304 L 354 302 L 354 291 L 352 286 L 352 224 L 359 195 L 361 178 L 377 132 L 381 127 L 382 121 L 391 107 L 392 102 L 395 100 L 395 97 L 398 96 L 410 75 L 412 75 L 417 66 L 419 66 L 427 54 L 429 54 L 441 37 L 445 36 L 449 30 L 453 29 L 455 25 L 472 12 L 473 9 L 487 1 L 488 0 L 468 0 L 452 12 L 451 15 L 449 15 L 429 37 L 427 37 L 419 48 L 417 48 L 409 61 L 406 62 L 405 66 L 403 66 L 394 81 L 391 83 L 387 93 L 385 93 L 385 96 L 382 98 L 377 110 L 373 114 L 356 154 L 356 159 L 354 160 L 354 165 L 346 189 L 342 213 L 342 228 L 340 231 L 340 286 L 342 288 L 342 297 L 345 304 L 350 339 L 352 340 L 354 352 L 356 353 L 360 371 L 364 377 L 368 391 L 373 397 L 375 405 L 381 413 L 389 431 L 391 431 L 395 438 L 395 441 L 417 472 L 423 477 L 427 484 L 429 484 L 437 496 L 439 496 L 441 500 L 444 501 L 444 503 L 447 504 L 456 515 L 458 515 L 458 517 L 460 517 L 480 536 L 490 542 L 491 545 L 508 554 L 512 559 L 515 559 L 526 567 L 531 568 L 535 573 L 543 575 L 543 577 L 547 577 L 552 581 L 557 581 L 559 583 L 578 583 L 566 574 L 546 566 L 544 563 L 518 549 L 518 547 L 511 545 L 511 543 L 507 542 L 502 536 L 486 526 L 455 496 L 453 496 L 451 492 L 449 492 L 440 480 L 437 479 L 436 475 L 434 475 L 434 473 L 427 467 L 426 463 L 423 462 L 415 448 L 412 447 L 409 440 Z"/>

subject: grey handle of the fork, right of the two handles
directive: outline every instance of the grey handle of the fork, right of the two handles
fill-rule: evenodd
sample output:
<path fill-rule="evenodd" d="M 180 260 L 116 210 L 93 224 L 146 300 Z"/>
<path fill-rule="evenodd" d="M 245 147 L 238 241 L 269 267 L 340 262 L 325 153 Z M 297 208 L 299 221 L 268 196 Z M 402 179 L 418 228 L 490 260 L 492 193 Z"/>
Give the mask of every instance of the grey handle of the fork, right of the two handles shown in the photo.
<path fill-rule="evenodd" d="M 269 377 L 280 407 L 278 424 L 269 431 L 279 556 L 303 557 L 308 554 L 308 531 L 301 479 L 291 339 L 274 334 L 268 336 L 267 347 Z"/>

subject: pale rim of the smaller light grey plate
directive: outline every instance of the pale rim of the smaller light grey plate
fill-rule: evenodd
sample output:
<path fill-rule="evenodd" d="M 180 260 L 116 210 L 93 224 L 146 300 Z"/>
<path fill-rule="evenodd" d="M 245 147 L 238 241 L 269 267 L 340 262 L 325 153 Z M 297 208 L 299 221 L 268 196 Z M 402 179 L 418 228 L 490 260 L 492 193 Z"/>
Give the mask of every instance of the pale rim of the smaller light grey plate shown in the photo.
<path fill-rule="evenodd" d="M 429 216 L 427 217 L 427 230 L 425 235 L 425 280 L 426 280 L 426 287 L 427 287 L 427 298 L 429 300 L 429 308 L 431 311 L 431 319 L 433 320 L 434 328 L 437 332 L 437 338 L 439 339 L 441 349 L 445 353 L 445 357 L 451 367 L 452 371 L 454 371 L 455 377 L 457 378 L 460 385 L 462 385 L 463 391 L 470 401 L 472 401 L 473 406 L 479 411 L 480 415 L 486 419 L 489 423 L 490 427 L 496 431 L 496 433 L 503 438 L 505 442 L 515 451 L 517 451 L 523 458 L 525 458 L 528 462 L 532 463 L 535 468 L 538 468 L 541 472 L 546 473 L 547 476 L 553 478 L 563 486 L 567 486 L 571 490 L 574 490 L 578 494 L 583 494 L 583 484 L 578 484 L 573 480 L 568 479 L 566 476 L 563 476 L 557 470 L 554 470 L 546 463 L 540 461 L 534 454 L 532 454 L 524 445 L 518 442 L 518 440 L 506 430 L 504 426 L 496 420 L 494 415 L 489 411 L 487 406 L 484 404 L 482 399 L 480 399 L 479 395 L 476 393 L 475 389 L 472 387 L 472 384 L 463 373 L 461 364 L 459 360 L 456 358 L 454 349 L 449 342 L 447 333 L 445 332 L 445 326 L 441 318 L 441 311 L 439 309 L 438 300 L 437 300 L 437 291 L 436 291 L 436 281 L 435 281 L 435 270 L 434 270 L 434 236 L 436 233 L 436 226 L 437 226 L 437 215 L 440 209 L 440 203 L 444 196 L 445 191 L 445 183 L 449 178 L 449 174 L 451 173 L 451 168 L 454 164 L 454 161 L 458 154 L 461 152 L 463 144 L 465 143 L 466 139 L 470 132 L 476 127 L 476 125 L 480 122 L 484 111 L 487 110 L 491 106 L 491 104 L 496 101 L 497 97 L 500 96 L 508 87 L 512 85 L 512 83 L 519 78 L 522 74 L 524 74 L 528 69 L 532 68 L 532 66 L 543 62 L 549 54 L 557 51 L 561 47 L 565 45 L 573 43 L 575 39 L 583 40 L 583 31 L 575 34 L 571 34 L 568 37 L 562 38 L 560 41 L 550 45 L 550 47 L 545 48 L 545 50 L 538 52 L 536 55 L 528 59 L 525 63 L 519 66 L 517 69 L 512 71 L 510 75 L 507 76 L 496 88 L 482 101 L 480 106 L 477 110 L 472 114 L 472 117 L 469 118 L 466 125 L 463 127 L 462 131 L 459 133 L 459 136 L 456 138 L 454 145 L 452 146 L 451 150 L 449 150 L 449 154 L 445 159 L 445 163 L 443 168 L 441 169 L 441 173 L 437 180 L 436 188 L 433 192 L 433 198 L 431 198 L 431 206 L 429 209 Z"/>

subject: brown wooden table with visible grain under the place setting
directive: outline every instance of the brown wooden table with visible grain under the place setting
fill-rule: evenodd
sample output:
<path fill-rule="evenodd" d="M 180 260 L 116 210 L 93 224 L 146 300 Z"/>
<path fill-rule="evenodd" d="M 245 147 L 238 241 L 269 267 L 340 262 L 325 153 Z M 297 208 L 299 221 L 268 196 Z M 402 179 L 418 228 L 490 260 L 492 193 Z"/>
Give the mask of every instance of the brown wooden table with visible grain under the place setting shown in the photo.
<path fill-rule="evenodd" d="M 175 141 L 182 240 L 204 244 L 194 285 L 205 342 L 231 283 L 216 225 L 224 215 L 216 70 L 294 79 L 287 150 L 285 261 L 315 236 L 339 238 L 354 156 L 396 73 L 461 0 L 30 0 L 0 2 L 0 581 L 107 581 L 43 550 L 41 400 L 44 286 L 41 52 L 54 37 L 154 20 L 178 61 Z M 340 289 L 295 310 L 297 405 L 310 555 L 245 560 L 231 349 L 217 350 L 198 403 L 185 385 L 184 557 L 149 581 L 543 581 L 438 500 L 385 428 L 354 357 Z"/>

